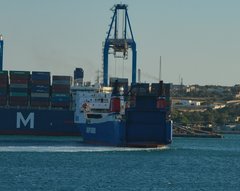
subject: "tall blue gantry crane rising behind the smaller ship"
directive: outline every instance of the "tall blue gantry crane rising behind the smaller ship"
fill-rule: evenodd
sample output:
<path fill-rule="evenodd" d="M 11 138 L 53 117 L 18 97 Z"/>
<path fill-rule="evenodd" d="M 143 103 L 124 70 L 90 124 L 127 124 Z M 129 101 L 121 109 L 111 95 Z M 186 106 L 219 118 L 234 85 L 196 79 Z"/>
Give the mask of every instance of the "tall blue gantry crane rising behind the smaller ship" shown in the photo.
<path fill-rule="evenodd" d="M 117 4 L 111 9 L 114 13 L 103 50 L 103 84 L 105 86 L 108 85 L 108 55 L 110 49 L 113 50 L 114 57 L 122 57 L 123 59 L 128 58 L 128 48 L 132 49 L 132 83 L 136 83 L 137 51 L 127 7 L 126 4 Z M 120 12 L 123 15 L 122 22 L 120 21 Z M 128 28 L 130 38 L 127 38 Z M 111 34 L 112 29 L 114 29 L 113 35 Z"/>

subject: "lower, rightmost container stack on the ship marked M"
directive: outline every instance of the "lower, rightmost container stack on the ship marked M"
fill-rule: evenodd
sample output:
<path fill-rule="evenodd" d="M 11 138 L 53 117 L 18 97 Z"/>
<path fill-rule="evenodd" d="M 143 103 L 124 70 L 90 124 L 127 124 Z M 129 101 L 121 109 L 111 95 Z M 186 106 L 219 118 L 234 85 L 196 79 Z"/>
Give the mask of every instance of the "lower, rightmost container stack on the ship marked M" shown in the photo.
<path fill-rule="evenodd" d="M 52 76 L 52 107 L 68 109 L 71 103 L 70 76 Z"/>

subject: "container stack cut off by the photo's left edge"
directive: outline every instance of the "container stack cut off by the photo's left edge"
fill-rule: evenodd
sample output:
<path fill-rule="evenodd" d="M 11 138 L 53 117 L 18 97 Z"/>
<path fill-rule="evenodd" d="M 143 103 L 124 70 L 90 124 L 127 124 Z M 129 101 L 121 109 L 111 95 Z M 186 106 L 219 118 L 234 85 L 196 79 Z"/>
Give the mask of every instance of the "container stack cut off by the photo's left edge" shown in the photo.
<path fill-rule="evenodd" d="M 0 106 L 7 105 L 8 71 L 0 71 Z"/>

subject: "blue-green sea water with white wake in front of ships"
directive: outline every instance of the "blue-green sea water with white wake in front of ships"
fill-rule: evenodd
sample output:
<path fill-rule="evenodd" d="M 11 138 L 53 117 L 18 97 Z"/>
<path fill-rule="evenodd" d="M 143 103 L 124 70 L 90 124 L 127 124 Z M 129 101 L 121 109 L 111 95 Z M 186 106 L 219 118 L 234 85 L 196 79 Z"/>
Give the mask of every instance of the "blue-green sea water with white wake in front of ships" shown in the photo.
<path fill-rule="evenodd" d="M 0 137 L 0 190 L 240 190 L 240 136 L 175 138 L 163 149 Z"/>

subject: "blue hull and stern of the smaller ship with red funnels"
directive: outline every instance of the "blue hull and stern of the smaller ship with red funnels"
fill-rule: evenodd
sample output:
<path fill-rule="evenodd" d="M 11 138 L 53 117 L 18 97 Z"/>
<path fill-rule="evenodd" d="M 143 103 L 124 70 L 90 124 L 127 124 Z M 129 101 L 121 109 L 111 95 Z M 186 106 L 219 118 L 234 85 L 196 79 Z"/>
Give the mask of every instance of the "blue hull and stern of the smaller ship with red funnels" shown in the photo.
<path fill-rule="evenodd" d="M 109 117 L 111 116 L 111 117 Z M 157 147 L 172 141 L 172 122 L 159 110 L 126 110 L 126 118 L 110 114 L 106 120 L 88 119 L 80 125 L 84 142 L 129 147 Z"/>

